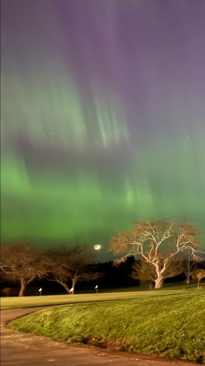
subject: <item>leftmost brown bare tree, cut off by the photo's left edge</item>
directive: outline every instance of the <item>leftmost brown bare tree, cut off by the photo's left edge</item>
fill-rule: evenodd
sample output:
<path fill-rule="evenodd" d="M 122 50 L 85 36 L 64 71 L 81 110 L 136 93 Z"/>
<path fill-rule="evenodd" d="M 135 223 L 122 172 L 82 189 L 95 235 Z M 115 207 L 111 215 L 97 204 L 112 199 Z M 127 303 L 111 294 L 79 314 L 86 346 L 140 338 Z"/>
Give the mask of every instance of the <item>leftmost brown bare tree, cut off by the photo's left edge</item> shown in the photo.
<path fill-rule="evenodd" d="M 1 276 L 20 283 L 19 296 L 24 296 L 30 282 L 43 276 L 41 256 L 42 249 L 33 247 L 27 240 L 1 247 Z"/>

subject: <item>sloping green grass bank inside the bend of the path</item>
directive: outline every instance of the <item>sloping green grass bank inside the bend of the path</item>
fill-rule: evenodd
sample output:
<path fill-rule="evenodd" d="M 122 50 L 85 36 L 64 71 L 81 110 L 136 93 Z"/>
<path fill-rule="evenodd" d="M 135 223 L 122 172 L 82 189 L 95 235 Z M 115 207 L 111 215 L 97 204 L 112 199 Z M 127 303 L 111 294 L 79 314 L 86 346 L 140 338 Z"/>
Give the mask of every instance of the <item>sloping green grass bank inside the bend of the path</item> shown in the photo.
<path fill-rule="evenodd" d="M 69 343 L 205 362 L 204 291 L 96 294 L 98 301 L 89 297 L 87 303 L 80 303 L 81 296 L 68 296 L 73 303 L 26 315 L 9 326 Z"/>

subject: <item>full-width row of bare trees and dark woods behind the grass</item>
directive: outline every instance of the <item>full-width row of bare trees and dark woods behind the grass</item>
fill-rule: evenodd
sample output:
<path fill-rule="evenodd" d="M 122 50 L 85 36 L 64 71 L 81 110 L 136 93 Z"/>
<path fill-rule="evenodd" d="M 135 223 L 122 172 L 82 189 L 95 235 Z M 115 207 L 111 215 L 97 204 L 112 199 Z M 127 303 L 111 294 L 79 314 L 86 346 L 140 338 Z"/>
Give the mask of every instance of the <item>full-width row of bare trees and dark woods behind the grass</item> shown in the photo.
<path fill-rule="evenodd" d="M 98 264 L 95 251 L 85 244 L 46 250 L 22 239 L 1 247 L 1 296 L 39 295 L 39 287 L 40 295 L 92 292 L 96 285 L 99 291 L 135 286 L 151 290 L 168 281 L 189 284 L 192 280 L 200 288 L 205 263 L 197 236 L 198 231 L 187 224 L 138 223 L 130 232 L 112 238 L 114 254 L 127 254 Z M 169 249 L 159 250 L 165 239 Z"/>

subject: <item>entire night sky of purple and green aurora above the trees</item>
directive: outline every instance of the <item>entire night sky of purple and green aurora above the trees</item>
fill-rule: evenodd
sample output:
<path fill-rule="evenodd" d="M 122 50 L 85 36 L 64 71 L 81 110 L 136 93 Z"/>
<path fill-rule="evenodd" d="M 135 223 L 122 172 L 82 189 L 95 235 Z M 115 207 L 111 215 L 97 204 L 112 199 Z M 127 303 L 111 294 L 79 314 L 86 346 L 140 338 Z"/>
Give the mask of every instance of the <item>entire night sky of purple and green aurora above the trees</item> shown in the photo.
<path fill-rule="evenodd" d="M 205 232 L 204 17 L 203 0 L 1 0 L 1 242 L 106 250 L 182 216 Z"/>

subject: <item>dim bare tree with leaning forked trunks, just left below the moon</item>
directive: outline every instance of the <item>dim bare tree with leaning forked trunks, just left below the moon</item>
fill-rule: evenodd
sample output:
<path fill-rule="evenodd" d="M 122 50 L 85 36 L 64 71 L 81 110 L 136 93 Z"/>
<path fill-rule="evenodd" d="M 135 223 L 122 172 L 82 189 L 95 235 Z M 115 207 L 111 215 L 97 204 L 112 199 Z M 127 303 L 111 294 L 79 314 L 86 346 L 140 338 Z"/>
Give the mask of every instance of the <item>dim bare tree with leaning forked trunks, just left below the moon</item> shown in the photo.
<path fill-rule="evenodd" d="M 102 276 L 101 273 L 94 272 L 93 266 L 89 266 L 93 260 L 92 251 L 80 244 L 69 249 L 62 247 L 58 251 L 49 251 L 44 260 L 46 278 L 61 284 L 68 294 L 72 287 L 74 294 L 77 281 L 93 281 Z M 71 283 L 70 288 L 68 282 Z"/>

